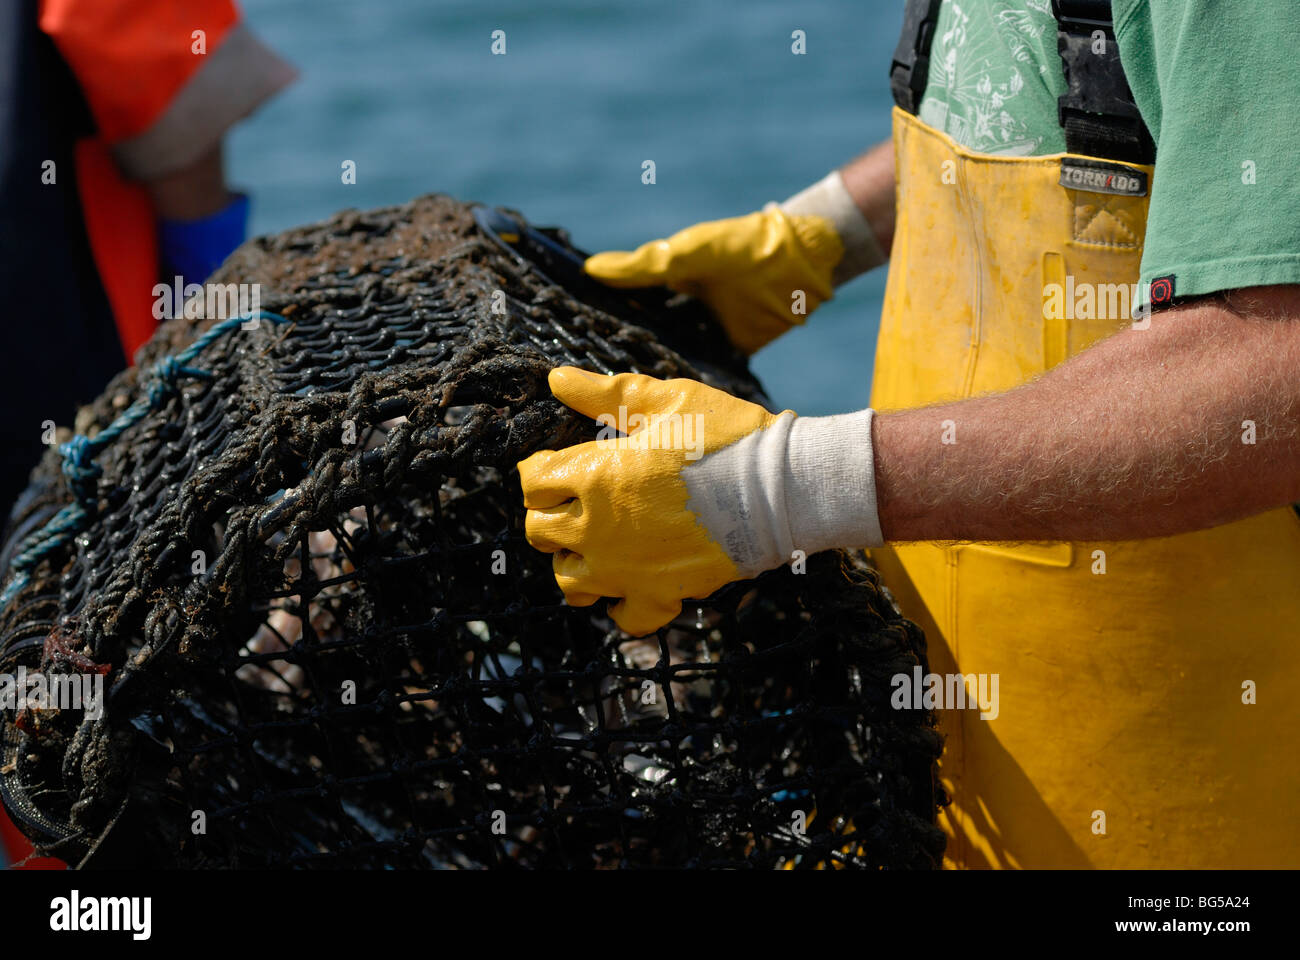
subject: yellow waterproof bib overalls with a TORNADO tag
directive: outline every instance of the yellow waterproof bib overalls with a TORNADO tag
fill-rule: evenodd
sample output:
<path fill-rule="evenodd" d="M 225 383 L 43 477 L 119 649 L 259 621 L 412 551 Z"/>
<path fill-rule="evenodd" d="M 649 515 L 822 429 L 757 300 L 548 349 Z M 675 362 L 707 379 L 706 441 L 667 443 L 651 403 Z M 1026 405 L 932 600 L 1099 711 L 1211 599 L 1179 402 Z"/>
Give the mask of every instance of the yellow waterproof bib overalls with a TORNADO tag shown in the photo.
<path fill-rule="evenodd" d="M 972 153 L 893 117 L 874 407 L 1006 390 L 1131 323 L 1097 303 L 1045 311 L 1044 290 L 1135 284 L 1145 195 L 1069 189 L 1065 155 Z M 1300 866 L 1292 510 L 1158 540 L 872 557 L 932 671 L 998 675 L 996 718 L 940 712 L 949 865 Z"/>

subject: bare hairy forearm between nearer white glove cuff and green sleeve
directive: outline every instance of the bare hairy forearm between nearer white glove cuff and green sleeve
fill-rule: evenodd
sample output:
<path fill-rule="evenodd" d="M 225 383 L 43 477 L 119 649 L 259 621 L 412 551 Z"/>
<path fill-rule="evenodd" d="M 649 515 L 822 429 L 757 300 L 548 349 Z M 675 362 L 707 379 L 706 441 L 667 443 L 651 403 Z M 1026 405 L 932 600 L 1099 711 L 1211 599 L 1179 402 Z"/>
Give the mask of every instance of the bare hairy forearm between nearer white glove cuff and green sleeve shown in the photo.
<path fill-rule="evenodd" d="M 1165 311 L 1008 393 L 878 414 L 885 539 L 1124 540 L 1300 500 L 1296 290 Z"/>

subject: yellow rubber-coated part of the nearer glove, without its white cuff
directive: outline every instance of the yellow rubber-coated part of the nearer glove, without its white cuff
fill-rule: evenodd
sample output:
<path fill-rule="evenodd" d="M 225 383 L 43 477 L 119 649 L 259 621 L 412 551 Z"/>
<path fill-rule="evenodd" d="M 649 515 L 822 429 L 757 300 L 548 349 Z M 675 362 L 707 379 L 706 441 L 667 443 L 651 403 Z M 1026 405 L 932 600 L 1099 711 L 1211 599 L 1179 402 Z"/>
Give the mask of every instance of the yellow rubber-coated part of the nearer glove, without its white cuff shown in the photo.
<path fill-rule="evenodd" d="M 610 615 L 641 636 L 677 617 L 684 598 L 741 579 L 686 509 L 682 470 L 780 418 L 694 380 L 559 367 L 549 382 L 558 399 L 602 423 L 607 437 L 542 450 L 519 464 L 528 542 L 555 554 L 564 598 L 589 606 L 619 597 Z M 627 427 L 628 436 L 615 427 Z"/>

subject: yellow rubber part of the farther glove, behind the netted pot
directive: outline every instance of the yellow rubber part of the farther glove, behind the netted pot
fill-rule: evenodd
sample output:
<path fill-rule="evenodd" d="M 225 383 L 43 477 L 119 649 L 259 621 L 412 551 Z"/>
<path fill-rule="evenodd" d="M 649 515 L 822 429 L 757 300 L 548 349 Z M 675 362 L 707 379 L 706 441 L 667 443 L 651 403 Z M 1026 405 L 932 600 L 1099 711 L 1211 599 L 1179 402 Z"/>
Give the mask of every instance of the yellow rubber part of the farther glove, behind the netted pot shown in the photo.
<path fill-rule="evenodd" d="M 842 256 L 831 220 L 770 204 L 749 216 L 688 226 L 632 252 L 595 254 L 586 272 L 610 286 L 663 285 L 698 297 L 732 343 L 753 354 L 831 299 L 831 274 Z M 803 313 L 794 312 L 797 290 L 803 291 Z"/>

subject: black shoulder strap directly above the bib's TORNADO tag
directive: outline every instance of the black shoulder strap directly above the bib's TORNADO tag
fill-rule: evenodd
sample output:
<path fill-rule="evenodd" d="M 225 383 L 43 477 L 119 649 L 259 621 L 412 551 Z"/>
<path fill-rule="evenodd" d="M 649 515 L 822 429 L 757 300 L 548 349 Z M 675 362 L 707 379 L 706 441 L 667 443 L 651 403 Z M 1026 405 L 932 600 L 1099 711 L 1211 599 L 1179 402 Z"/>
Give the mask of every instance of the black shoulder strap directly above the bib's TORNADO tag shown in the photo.
<path fill-rule="evenodd" d="M 1058 111 L 1071 153 L 1149 164 L 1156 144 L 1119 62 L 1110 0 L 1052 0 L 1066 92 Z M 1102 38 L 1093 39 L 1097 33 Z"/>

